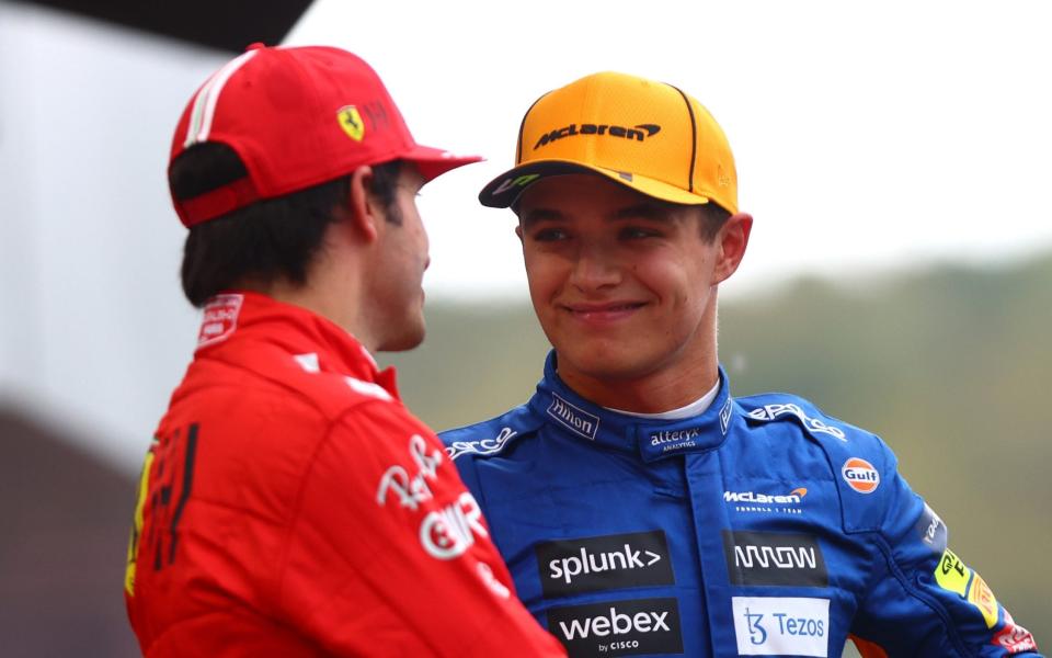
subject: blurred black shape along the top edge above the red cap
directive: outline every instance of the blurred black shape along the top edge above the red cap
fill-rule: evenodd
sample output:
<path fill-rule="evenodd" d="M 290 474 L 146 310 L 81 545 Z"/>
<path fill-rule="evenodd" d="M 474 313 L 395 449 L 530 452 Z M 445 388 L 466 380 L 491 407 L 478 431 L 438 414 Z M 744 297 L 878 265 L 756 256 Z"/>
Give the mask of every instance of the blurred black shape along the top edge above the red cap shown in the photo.
<path fill-rule="evenodd" d="M 311 0 L 15 0 L 116 23 L 179 41 L 240 53 L 251 43 L 277 45 Z"/>

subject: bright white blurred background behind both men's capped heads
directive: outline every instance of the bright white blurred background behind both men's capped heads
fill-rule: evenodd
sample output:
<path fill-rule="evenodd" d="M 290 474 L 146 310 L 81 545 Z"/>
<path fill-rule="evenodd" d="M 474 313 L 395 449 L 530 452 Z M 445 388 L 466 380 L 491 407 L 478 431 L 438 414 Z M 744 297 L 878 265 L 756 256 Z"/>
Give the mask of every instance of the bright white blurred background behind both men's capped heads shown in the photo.
<path fill-rule="evenodd" d="M 729 295 L 1052 247 L 1044 3 L 832 0 L 351 3 L 287 43 L 354 50 L 419 141 L 489 160 L 421 205 L 430 298 L 524 302 L 512 216 L 474 201 L 541 93 L 622 70 L 698 98 L 756 217 Z M 190 360 L 164 180 L 186 100 L 227 55 L 0 3 L 0 400 L 137 470 Z"/>

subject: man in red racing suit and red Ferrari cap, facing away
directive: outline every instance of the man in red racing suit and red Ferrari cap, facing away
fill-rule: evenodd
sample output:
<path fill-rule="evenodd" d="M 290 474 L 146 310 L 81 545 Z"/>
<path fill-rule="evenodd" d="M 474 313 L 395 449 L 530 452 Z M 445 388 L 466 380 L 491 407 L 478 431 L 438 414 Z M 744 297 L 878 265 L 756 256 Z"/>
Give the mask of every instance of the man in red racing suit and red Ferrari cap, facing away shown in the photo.
<path fill-rule="evenodd" d="M 335 48 L 252 48 L 191 100 L 169 178 L 204 321 L 138 487 L 144 654 L 564 655 L 369 355 L 422 340 L 414 196 L 473 160 Z"/>

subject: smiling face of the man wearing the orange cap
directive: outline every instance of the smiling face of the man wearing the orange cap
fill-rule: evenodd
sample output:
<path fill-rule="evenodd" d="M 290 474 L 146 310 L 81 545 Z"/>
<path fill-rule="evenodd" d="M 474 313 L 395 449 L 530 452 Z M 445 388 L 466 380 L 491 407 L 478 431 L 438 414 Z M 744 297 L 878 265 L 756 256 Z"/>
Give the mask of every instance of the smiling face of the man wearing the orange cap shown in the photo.
<path fill-rule="evenodd" d="M 701 209 L 590 174 L 534 183 L 518 215 L 530 298 L 568 384 L 647 410 L 602 392 L 714 377 L 717 284 L 741 261 L 747 215 L 708 240 Z"/>

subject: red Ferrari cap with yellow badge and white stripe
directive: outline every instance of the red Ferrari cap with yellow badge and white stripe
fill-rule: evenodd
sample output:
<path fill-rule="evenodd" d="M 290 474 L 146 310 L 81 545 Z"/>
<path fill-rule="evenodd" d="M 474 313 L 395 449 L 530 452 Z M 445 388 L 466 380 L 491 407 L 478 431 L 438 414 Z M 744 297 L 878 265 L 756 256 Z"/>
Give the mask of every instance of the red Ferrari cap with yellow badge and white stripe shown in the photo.
<path fill-rule="evenodd" d="M 481 159 L 416 144 L 376 71 L 329 46 L 254 44 L 213 73 L 183 111 L 169 166 L 205 143 L 232 148 L 248 177 L 193 198 L 173 195 L 187 227 L 363 164 L 403 159 L 431 180 Z"/>

